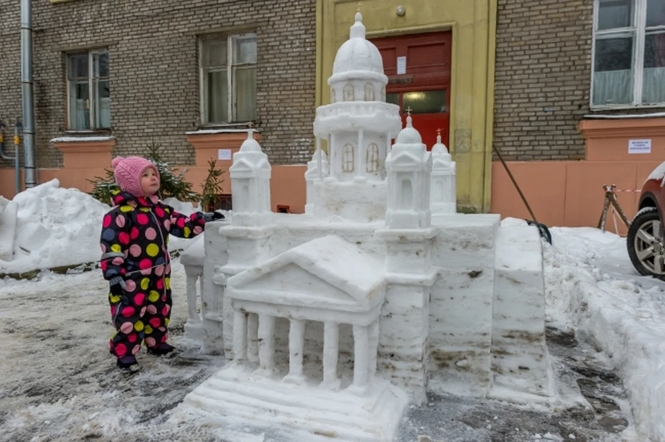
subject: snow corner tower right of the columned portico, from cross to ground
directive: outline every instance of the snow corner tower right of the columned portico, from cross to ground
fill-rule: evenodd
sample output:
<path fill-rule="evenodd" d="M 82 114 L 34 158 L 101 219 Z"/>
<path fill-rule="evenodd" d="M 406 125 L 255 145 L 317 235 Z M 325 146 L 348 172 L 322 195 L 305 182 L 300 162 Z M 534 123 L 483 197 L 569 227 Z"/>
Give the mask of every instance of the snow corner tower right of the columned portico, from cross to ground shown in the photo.
<path fill-rule="evenodd" d="M 385 244 L 386 303 L 380 330 L 400 330 L 400 339 L 380 339 L 378 362 L 391 382 L 406 383 L 416 403 L 426 398 L 429 379 L 429 299 L 438 267 L 432 265 L 429 175 L 432 155 L 414 129 L 410 110 L 386 159 L 388 204 L 386 224 L 375 231 Z M 404 324 L 409 324 L 404 327 Z M 402 371 L 393 369 L 399 360 Z"/>

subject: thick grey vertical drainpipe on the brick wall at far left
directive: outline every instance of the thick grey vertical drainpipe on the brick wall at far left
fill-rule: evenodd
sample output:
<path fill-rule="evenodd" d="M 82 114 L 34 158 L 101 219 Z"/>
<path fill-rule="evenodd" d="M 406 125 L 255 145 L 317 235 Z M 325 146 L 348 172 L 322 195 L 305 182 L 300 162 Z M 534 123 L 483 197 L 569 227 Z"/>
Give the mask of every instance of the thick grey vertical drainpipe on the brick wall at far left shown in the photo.
<path fill-rule="evenodd" d="M 23 152 L 26 188 L 37 185 L 35 168 L 35 100 L 33 98 L 32 0 L 21 0 L 21 98 L 23 101 Z"/>

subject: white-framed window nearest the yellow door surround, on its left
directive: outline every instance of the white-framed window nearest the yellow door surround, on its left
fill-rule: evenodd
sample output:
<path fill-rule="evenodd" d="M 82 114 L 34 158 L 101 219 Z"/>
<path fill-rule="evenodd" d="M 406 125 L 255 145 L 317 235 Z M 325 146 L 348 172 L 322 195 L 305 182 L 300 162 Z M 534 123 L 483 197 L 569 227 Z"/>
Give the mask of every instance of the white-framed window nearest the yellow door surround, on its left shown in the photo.
<path fill-rule="evenodd" d="M 256 119 L 256 35 L 201 40 L 204 124 Z"/>

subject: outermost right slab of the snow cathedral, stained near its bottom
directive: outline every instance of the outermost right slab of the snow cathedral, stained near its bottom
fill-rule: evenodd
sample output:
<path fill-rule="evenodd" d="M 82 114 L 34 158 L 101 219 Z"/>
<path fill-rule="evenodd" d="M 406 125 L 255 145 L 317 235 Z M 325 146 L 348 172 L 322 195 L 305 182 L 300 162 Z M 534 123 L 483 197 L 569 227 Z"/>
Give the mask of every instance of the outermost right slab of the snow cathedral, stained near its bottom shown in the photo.
<path fill-rule="evenodd" d="M 542 243 L 535 227 L 499 229 L 493 324 L 493 390 L 551 396 Z"/>

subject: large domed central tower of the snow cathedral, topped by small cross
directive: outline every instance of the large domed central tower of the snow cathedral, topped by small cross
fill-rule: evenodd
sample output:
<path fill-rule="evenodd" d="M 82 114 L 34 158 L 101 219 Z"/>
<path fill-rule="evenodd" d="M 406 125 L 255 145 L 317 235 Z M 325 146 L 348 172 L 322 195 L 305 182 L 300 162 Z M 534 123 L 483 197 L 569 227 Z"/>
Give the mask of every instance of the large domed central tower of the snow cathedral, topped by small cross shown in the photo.
<path fill-rule="evenodd" d="M 387 83 L 381 54 L 365 38 L 358 11 L 350 38 L 332 65 L 330 105 L 320 106 L 314 120 L 317 150 L 325 139 L 330 163 L 325 175 L 319 168 L 319 180 L 308 195 L 315 215 L 335 214 L 357 221 L 384 215 L 385 160 L 391 139 L 402 128 L 399 107 L 385 103 Z"/>

